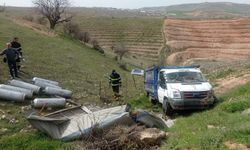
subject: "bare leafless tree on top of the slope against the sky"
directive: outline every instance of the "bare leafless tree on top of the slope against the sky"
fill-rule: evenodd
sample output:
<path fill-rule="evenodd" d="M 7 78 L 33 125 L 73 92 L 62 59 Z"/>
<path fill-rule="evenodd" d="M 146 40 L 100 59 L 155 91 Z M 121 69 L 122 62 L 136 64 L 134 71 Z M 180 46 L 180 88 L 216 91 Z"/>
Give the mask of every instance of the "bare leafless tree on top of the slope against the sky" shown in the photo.
<path fill-rule="evenodd" d="M 50 29 L 54 29 L 59 23 L 72 19 L 72 16 L 66 13 L 66 9 L 70 6 L 68 0 L 34 0 L 33 3 L 38 11 L 49 20 Z"/>

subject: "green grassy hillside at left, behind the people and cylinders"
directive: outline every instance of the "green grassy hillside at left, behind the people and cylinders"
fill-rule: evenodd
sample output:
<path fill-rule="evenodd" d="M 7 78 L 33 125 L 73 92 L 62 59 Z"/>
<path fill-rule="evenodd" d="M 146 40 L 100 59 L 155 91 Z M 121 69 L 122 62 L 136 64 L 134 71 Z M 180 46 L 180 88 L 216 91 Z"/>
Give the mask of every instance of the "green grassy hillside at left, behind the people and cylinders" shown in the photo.
<path fill-rule="evenodd" d="M 103 85 L 108 86 L 106 76 L 112 69 L 121 72 L 124 79 L 132 80 L 129 72 L 120 70 L 113 59 L 84 47 L 80 42 L 72 41 L 63 35 L 55 37 L 42 35 L 34 32 L 33 29 L 15 25 L 3 17 L 1 19 L 4 20 L 0 23 L 2 49 L 13 36 L 20 37 L 23 43 L 26 78 L 41 76 L 58 80 L 68 89 L 72 89 L 74 98 L 82 102 L 98 100 L 100 81 L 103 82 Z M 2 70 L 6 70 L 4 64 L 0 67 Z M 1 75 L 2 81 L 9 79 L 7 72 L 2 71 L 2 73 L 6 73 Z"/>

